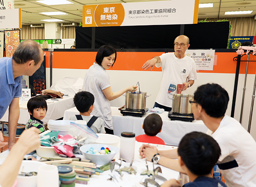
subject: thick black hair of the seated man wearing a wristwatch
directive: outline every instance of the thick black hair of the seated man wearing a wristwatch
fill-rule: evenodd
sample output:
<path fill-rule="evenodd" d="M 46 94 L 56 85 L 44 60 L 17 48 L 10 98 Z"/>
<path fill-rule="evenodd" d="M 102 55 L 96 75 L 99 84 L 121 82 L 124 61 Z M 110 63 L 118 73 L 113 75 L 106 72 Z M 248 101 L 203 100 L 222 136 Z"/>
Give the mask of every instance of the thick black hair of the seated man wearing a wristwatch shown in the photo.
<path fill-rule="evenodd" d="M 199 86 L 194 93 L 194 100 L 207 115 L 220 118 L 225 115 L 229 96 L 227 91 L 218 84 L 205 84 Z"/>

